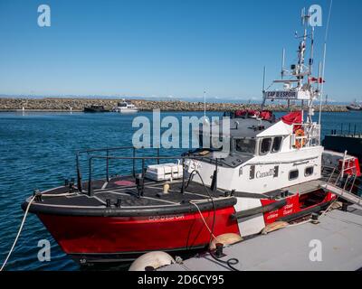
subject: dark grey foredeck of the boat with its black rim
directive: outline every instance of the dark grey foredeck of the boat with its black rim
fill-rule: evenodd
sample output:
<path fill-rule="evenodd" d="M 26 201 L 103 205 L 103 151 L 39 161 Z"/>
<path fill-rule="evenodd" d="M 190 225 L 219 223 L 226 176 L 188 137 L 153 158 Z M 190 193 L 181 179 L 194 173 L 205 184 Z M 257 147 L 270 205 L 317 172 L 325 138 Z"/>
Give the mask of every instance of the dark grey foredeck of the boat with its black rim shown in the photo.
<path fill-rule="evenodd" d="M 163 186 L 166 183 L 169 184 L 169 190 L 168 193 L 163 193 Z M 76 187 L 70 189 L 69 186 L 42 191 L 41 200 L 33 201 L 31 211 L 41 209 L 42 212 L 54 210 L 62 213 L 60 210 L 74 210 L 77 215 L 84 215 L 87 212 L 85 215 L 103 216 L 134 215 L 135 209 L 145 209 L 138 210 L 137 214 L 142 215 L 148 213 L 146 209 L 155 210 L 156 213 L 157 209 L 163 209 L 164 212 L 169 210 L 170 213 L 194 211 L 196 208 L 191 202 L 197 202 L 199 208 L 203 210 L 212 210 L 214 207 L 224 208 L 236 203 L 235 198 L 225 196 L 224 191 L 205 189 L 203 185 L 195 182 L 189 182 L 188 185 L 186 183 L 184 192 L 181 192 L 182 181 L 180 180 L 156 182 L 145 179 L 143 192 L 140 193 L 134 177 L 115 177 L 110 179 L 110 182 L 105 180 L 92 182 L 92 190 L 89 194 L 88 183 L 84 182 L 82 192 Z"/>

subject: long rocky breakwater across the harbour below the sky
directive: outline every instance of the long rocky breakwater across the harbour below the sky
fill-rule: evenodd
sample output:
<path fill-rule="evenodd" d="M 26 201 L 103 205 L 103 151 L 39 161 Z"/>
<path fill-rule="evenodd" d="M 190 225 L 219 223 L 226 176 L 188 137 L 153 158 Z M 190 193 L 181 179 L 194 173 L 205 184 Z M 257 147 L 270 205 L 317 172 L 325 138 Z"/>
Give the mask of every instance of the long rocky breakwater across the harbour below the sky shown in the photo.
<path fill-rule="evenodd" d="M 105 98 L 0 98 L 0 111 L 35 110 L 35 111 L 82 111 L 84 107 L 101 105 L 112 109 L 121 101 L 120 99 Z M 140 110 L 149 111 L 160 109 L 162 111 L 203 111 L 203 102 L 189 102 L 181 100 L 131 100 Z M 272 111 L 287 111 L 286 105 L 268 105 L 265 107 Z M 235 104 L 235 103 L 206 103 L 207 111 L 234 111 L 237 109 L 260 109 L 258 104 Z M 291 109 L 297 109 L 291 106 Z M 326 112 L 346 112 L 345 106 L 326 105 Z"/>

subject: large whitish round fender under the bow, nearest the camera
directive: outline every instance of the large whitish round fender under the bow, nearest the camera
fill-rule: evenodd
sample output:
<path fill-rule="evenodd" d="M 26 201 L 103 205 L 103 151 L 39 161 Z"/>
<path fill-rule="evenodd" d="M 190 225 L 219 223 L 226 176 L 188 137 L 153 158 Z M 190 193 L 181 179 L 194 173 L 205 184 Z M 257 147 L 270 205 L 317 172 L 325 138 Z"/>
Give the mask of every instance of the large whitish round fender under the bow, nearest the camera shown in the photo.
<path fill-rule="evenodd" d="M 154 251 L 138 256 L 129 267 L 129 271 L 146 271 L 146 268 L 149 271 L 150 267 L 157 269 L 174 263 L 176 263 L 175 259 L 166 252 Z"/>

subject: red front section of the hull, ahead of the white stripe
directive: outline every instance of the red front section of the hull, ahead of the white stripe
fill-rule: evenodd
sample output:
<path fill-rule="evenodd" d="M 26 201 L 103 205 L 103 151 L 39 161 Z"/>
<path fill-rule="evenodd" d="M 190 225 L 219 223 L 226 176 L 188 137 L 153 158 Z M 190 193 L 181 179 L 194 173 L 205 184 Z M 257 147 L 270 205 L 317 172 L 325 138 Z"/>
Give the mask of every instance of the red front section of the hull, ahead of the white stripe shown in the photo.
<path fill-rule="evenodd" d="M 233 207 L 216 210 L 214 235 L 237 233 Z M 210 232 L 198 212 L 152 217 L 71 217 L 38 215 L 62 250 L 71 255 L 141 254 L 152 250 L 206 247 Z M 203 212 L 211 228 L 213 211 Z"/>

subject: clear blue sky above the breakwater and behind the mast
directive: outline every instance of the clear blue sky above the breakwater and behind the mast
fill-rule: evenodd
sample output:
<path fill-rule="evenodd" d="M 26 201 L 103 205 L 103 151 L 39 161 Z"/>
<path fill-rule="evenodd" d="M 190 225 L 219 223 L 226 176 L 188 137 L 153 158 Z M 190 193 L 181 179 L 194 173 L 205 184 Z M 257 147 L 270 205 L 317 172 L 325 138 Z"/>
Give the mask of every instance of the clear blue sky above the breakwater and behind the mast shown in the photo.
<path fill-rule="evenodd" d="M 38 5 L 52 26 L 37 24 Z M 0 94 L 261 98 L 281 49 L 296 58 L 300 9 L 329 0 L 0 0 Z M 326 93 L 362 100 L 362 1 L 334 0 Z"/>

